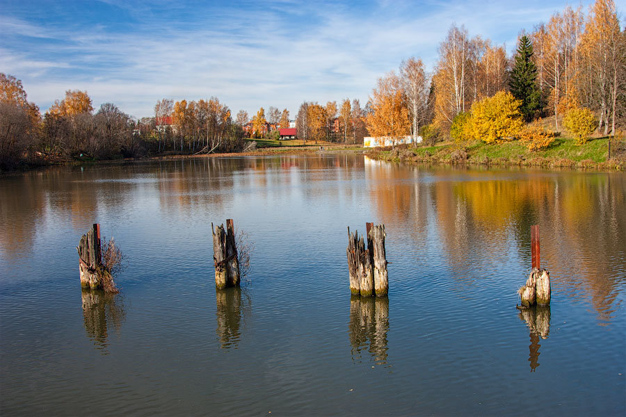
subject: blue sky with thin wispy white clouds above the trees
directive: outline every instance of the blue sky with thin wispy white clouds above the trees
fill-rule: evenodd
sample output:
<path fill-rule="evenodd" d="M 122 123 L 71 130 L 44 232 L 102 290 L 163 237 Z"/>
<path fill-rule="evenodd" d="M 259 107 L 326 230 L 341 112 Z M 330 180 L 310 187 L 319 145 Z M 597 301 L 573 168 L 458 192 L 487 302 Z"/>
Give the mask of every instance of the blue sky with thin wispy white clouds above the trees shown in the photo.
<path fill-rule="evenodd" d="M 626 0 L 617 0 L 623 12 Z M 582 1 L 586 10 L 591 1 Z M 515 47 L 565 1 L 0 0 L 0 72 L 45 111 L 65 90 L 135 117 L 216 96 L 236 113 L 358 98 L 417 56 L 431 70 L 451 24 Z M 575 3 L 577 6 L 578 3 Z"/>

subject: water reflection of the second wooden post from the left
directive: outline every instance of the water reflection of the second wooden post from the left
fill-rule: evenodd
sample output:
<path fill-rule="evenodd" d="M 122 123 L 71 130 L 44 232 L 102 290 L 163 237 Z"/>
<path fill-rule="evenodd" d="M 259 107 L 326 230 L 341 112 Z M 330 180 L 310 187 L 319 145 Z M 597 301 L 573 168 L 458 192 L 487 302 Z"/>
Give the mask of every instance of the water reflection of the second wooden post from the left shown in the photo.
<path fill-rule="evenodd" d="M 241 287 L 216 288 L 217 334 L 224 349 L 237 347 L 241 331 Z"/>

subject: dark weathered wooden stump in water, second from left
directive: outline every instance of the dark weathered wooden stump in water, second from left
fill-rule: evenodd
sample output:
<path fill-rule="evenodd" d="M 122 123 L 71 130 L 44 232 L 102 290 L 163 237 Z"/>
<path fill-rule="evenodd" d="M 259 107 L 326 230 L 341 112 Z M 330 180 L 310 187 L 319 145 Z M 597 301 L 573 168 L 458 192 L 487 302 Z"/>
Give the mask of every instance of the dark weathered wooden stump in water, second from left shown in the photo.
<path fill-rule="evenodd" d="M 238 286 L 240 281 L 239 259 L 237 258 L 232 219 L 227 219 L 226 224 L 227 230 L 224 229 L 224 224 L 214 228 L 213 223 L 211 223 L 216 288 Z"/>

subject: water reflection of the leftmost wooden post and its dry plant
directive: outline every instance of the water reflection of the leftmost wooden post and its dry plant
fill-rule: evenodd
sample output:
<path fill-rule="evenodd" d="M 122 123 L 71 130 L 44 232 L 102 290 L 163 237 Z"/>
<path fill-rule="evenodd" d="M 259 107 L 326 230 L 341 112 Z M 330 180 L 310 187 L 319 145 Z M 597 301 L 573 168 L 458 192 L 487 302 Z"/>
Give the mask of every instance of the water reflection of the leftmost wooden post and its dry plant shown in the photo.
<path fill-rule="evenodd" d="M 106 348 L 109 330 L 119 331 L 126 312 L 120 295 L 83 288 L 83 318 L 89 338 L 99 348 Z"/>

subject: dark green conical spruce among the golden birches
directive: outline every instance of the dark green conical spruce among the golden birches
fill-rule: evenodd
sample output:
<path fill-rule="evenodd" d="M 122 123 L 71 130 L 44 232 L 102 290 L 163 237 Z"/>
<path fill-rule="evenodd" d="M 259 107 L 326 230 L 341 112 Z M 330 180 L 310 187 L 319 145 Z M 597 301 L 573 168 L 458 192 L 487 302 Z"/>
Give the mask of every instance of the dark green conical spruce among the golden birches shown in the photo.
<path fill-rule="evenodd" d="M 515 54 L 515 67 L 511 71 L 511 81 L 508 86 L 511 94 L 518 100 L 522 100 L 520 112 L 524 120 L 530 122 L 541 109 L 541 94 L 537 87 L 537 67 L 531 60 L 533 56 L 533 44 L 528 36 L 520 38 L 520 46 Z"/>

